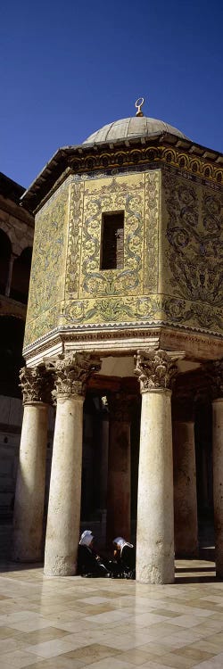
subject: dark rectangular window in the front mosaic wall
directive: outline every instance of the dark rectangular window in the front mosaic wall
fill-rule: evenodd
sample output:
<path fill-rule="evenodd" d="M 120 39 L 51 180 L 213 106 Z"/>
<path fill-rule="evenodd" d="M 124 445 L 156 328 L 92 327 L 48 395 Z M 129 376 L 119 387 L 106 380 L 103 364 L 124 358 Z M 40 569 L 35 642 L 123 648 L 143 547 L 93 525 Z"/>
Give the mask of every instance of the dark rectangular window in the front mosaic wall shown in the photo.
<path fill-rule="evenodd" d="M 103 213 L 100 269 L 124 267 L 124 211 Z"/>

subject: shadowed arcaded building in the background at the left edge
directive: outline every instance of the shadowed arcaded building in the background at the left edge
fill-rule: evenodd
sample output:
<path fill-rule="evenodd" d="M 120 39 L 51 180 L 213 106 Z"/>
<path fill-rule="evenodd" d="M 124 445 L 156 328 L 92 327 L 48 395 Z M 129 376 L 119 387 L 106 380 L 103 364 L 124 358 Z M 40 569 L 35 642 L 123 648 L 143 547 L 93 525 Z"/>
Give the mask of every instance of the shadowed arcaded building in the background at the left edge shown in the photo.
<path fill-rule="evenodd" d="M 21 438 L 19 374 L 29 293 L 34 218 L 21 209 L 25 189 L 0 174 L 0 517 L 12 520 Z"/>

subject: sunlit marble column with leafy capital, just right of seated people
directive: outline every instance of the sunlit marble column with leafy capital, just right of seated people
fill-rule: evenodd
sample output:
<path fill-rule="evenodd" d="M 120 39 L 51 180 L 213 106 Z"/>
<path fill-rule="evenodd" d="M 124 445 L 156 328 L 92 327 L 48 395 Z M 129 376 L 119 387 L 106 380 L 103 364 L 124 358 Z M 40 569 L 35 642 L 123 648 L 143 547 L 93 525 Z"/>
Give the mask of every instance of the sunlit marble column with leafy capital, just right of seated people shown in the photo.
<path fill-rule="evenodd" d="M 138 351 L 142 393 L 138 471 L 136 580 L 174 582 L 174 508 L 170 387 L 180 355 Z"/>

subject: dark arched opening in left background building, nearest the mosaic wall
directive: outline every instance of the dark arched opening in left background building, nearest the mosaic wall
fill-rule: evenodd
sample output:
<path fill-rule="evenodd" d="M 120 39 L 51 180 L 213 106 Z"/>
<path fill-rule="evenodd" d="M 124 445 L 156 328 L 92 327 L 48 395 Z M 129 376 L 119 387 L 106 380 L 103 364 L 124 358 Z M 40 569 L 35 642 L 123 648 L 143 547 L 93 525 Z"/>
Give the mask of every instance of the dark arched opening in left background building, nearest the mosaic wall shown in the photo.
<path fill-rule="evenodd" d="M 28 246 L 13 262 L 10 297 L 23 304 L 28 301 L 31 260 L 32 249 Z"/>

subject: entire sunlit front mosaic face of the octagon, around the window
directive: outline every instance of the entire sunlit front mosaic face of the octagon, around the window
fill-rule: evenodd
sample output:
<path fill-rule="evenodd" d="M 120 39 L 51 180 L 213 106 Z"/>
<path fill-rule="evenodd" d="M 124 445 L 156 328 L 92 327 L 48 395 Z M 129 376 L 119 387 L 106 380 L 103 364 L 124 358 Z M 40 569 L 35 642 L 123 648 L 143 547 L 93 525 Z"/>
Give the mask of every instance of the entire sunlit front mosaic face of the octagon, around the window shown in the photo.
<path fill-rule="evenodd" d="M 83 183 L 74 185 L 76 213 L 70 218 L 62 325 L 118 325 L 152 313 L 161 317 L 160 302 L 153 296 L 158 285 L 159 198 L 159 170 L 87 180 L 84 195 Z M 124 268 L 100 270 L 103 211 L 120 210 L 125 211 Z"/>

